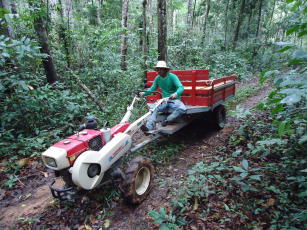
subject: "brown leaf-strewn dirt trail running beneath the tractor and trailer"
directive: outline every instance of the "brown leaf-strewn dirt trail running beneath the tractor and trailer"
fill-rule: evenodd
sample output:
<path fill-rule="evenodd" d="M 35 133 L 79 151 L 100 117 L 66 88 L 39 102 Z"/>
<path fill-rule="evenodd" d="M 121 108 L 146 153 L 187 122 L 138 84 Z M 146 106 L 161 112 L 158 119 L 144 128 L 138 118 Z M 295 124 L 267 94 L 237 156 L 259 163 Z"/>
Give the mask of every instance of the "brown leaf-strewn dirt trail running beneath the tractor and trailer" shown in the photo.
<path fill-rule="evenodd" d="M 240 106 L 248 109 L 257 105 L 268 91 L 267 88 L 261 90 L 242 102 Z M 127 206 L 121 200 L 111 201 L 112 208 L 109 216 L 101 219 L 93 218 L 97 216 L 96 211 L 99 210 L 97 200 L 82 200 L 72 209 L 67 209 L 65 204 L 55 206 L 46 185 L 50 179 L 40 177 L 37 179 L 40 183 L 26 184 L 24 191 L 21 191 L 21 188 L 18 192 L 0 190 L 0 229 L 8 229 L 16 224 L 21 229 L 39 229 L 40 225 L 47 226 L 48 229 L 88 229 L 85 222 L 92 226 L 92 229 L 104 229 L 103 226 L 114 230 L 153 229 L 155 226 L 149 220 L 148 211 L 167 207 L 171 200 L 171 192 L 178 186 L 174 182 L 184 178 L 187 170 L 196 162 L 204 160 L 206 152 L 223 145 L 236 123 L 235 118 L 229 117 L 227 127 L 220 132 L 210 127 L 205 130 L 200 129 L 199 124 L 191 124 L 172 137 L 178 143 L 187 144 L 187 147 L 166 166 L 156 166 L 153 189 L 149 197 L 139 206 Z M 31 168 L 31 165 L 29 167 Z M 82 221 L 77 218 L 77 215 L 83 216 Z M 67 216 L 71 217 L 70 220 L 67 220 Z M 21 224 L 20 218 L 26 218 L 28 224 Z M 34 218 L 39 220 L 38 225 L 29 224 L 29 220 Z"/>

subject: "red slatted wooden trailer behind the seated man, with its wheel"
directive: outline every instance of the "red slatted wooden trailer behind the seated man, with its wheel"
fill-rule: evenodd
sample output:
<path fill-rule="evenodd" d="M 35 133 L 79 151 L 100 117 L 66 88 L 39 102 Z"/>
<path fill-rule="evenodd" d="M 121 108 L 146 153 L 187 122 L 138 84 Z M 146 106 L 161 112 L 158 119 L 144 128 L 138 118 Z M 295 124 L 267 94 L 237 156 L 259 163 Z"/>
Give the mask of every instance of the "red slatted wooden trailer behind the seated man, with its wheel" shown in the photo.
<path fill-rule="evenodd" d="M 193 117 L 203 113 L 211 113 L 212 121 L 218 128 L 223 128 L 226 121 L 226 111 L 223 103 L 233 97 L 236 91 L 237 76 L 231 75 L 214 80 L 209 80 L 209 70 L 174 70 L 184 86 L 181 101 L 186 105 L 187 113 L 177 123 L 162 127 L 158 124 L 155 133 L 172 134 L 191 121 Z M 146 88 L 152 86 L 157 72 L 148 72 L 146 76 Z M 158 91 L 161 91 L 158 89 Z M 161 98 L 160 94 L 147 96 L 147 104 L 152 107 Z M 192 116 L 195 115 L 195 116 Z M 158 120 L 165 117 L 161 115 Z"/>

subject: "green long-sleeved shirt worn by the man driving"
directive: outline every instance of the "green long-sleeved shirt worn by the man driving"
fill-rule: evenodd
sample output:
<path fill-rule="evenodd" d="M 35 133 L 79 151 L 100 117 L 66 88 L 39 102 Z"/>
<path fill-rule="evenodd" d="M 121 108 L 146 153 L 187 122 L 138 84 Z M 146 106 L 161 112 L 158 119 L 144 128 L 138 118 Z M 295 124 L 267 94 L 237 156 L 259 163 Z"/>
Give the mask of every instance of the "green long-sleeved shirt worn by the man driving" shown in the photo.
<path fill-rule="evenodd" d="M 184 91 L 182 83 L 178 79 L 177 75 L 173 73 L 167 73 L 166 77 L 161 77 L 158 75 L 152 86 L 148 89 L 148 91 L 156 91 L 157 88 L 160 87 L 162 91 L 162 97 L 169 97 L 173 93 L 177 94 L 177 98 L 180 100 L 181 94 Z M 151 93 L 146 92 L 145 96 L 150 95 Z"/>

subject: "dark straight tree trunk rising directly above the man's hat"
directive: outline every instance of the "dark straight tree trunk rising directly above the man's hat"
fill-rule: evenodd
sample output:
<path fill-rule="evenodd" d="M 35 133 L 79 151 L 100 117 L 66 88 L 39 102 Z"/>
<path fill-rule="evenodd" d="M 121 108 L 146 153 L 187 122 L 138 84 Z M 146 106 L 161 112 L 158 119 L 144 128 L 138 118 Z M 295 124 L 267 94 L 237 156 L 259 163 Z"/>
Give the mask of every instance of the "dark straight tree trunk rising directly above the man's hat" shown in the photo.
<path fill-rule="evenodd" d="M 167 20 L 166 20 L 166 2 L 158 0 L 158 60 L 167 61 Z"/>

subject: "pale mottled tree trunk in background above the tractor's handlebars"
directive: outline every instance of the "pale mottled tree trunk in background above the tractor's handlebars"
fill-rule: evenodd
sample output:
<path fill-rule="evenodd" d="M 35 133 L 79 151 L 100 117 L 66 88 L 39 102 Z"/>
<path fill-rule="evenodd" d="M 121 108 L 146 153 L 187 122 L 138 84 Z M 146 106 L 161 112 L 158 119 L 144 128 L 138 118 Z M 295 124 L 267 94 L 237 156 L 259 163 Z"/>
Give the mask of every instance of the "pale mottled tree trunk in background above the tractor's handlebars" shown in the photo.
<path fill-rule="evenodd" d="M 128 54 L 128 36 L 127 36 L 127 25 L 128 25 L 128 9 L 129 0 L 123 0 L 122 5 L 122 47 L 121 47 L 121 69 L 127 70 L 127 54 Z"/>

